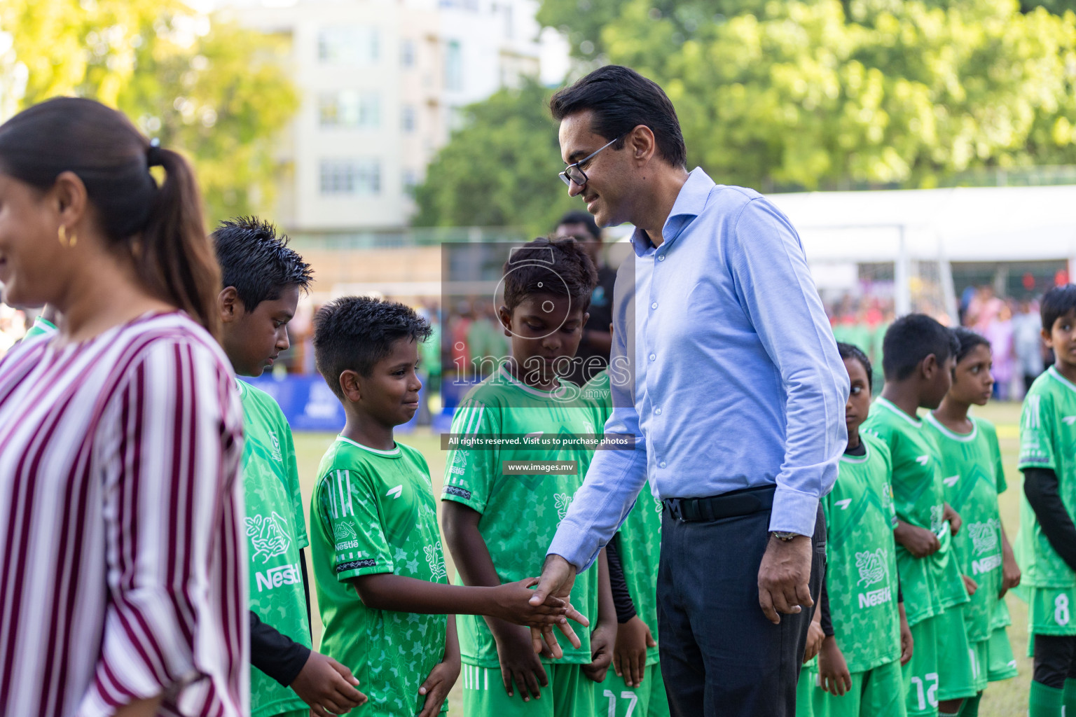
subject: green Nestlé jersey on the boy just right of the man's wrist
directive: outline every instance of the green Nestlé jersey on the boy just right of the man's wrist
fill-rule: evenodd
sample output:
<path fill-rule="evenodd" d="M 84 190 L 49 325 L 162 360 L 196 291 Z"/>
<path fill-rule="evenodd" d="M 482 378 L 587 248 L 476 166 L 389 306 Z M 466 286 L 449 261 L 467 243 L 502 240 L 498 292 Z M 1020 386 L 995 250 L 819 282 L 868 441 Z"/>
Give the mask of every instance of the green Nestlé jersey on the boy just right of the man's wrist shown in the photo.
<path fill-rule="evenodd" d="M 901 657 L 896 543 L 889 447 L 861 434 L 863 456 L 844 455 L 837 483 L 822 498 L 829 539 L 830 617 L 850 672 Z M 905 592 L 907 594 L 907 592 Z"/>

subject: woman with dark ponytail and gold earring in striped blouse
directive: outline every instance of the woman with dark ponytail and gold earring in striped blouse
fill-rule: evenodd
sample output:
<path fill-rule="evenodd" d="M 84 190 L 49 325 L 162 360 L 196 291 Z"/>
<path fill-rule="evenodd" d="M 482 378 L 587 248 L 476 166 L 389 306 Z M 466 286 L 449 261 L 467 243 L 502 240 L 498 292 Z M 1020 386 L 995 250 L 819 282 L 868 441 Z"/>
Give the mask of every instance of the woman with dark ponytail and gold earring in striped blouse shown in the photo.
<path fill-rule="evenodd" d="M 61 316 L 0 360 L 0 715 L 245 714 L 243 415 L 186 161 L 90 100 L 16 115 L 0 283 Z"/>

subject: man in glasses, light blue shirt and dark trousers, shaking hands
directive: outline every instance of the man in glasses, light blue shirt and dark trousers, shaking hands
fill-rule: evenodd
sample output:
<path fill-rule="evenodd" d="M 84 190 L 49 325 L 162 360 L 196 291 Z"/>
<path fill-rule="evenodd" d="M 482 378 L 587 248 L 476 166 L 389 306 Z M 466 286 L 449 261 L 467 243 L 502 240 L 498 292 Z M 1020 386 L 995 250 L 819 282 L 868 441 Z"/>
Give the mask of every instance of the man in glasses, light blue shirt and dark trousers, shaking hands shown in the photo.
<path fill-rule="evenodd" d="M 605 427 L 636 448 L 595 456 L 534 602 L 568 593 L 649 478 L 672 714 L 792 717 L 848 397 L 799 238 L 758 192 L 686 172 L 671 102 L 634 71 L 596 70 L 550 106 L 569 193 L 599 226 L 636 226 L 613 311 L 631 378 L 611 382 Z"/>

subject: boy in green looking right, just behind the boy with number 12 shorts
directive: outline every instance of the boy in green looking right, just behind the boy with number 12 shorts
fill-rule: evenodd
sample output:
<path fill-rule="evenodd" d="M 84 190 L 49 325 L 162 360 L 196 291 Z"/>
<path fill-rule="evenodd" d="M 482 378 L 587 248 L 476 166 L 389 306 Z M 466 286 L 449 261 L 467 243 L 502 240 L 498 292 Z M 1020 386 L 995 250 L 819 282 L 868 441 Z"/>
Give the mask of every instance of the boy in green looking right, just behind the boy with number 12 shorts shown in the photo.
<path fill-rule="evenodd" d="M 1013 556 L 997 510 L 997 494 L 1005 490 L 1005 472 L 997 434 L 989 421 L 972 418 L 968 407 L 986 405 L 994 385 L 990 373 L 990 342 L 968 329 L 954 329 L 958 349 L 952 387 L 934 412 L 926 415 L 942 457 L 942 482 L 946 501 L 960 513 L 963 529 L 953 537 L 961 572 L 969 585 L 971 600 L 962 608 L 971 644 L 977 694 L 965 700 L 961 715 L 978 714 L 979 700 L 989 679 L 993 616 L 1005 591 L 1020 583 L 1020 569 Z M 1007 641 L 1004 629 L 994 650 Z M 1011 648 L 1009 649 L 1011 654 Z"/>

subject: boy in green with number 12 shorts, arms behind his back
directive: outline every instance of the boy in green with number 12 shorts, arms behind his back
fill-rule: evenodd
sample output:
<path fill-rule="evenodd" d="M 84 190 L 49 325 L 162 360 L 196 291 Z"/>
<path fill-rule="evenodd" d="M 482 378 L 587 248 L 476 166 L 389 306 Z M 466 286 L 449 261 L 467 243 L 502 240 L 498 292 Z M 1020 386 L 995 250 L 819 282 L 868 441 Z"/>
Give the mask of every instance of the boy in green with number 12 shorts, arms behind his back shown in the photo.
<path fill-rule="evenodd" d="M 917 414 L 936 408 L 949 390 L 954 344 L 952 332 L 929 316 L 895 320 L 882 349 L 886 385 L 864 427 L 886 443 L 892 459 L 896 565 L 915 640 L 903 670 L 905 698 L 908 715 L 916 717 L 939 714 L 939 707 L 940 714 L 957 714 L 958 696 L 975 694 L 963 617 L 945 619 L 946 608 L 967 602 L 948 549 L 960 516 L 945 502 L 937 447 Z"/>

